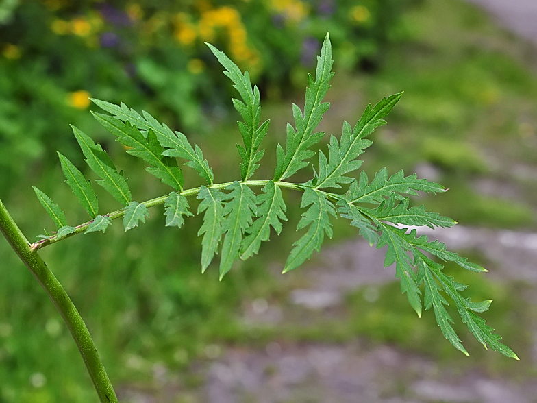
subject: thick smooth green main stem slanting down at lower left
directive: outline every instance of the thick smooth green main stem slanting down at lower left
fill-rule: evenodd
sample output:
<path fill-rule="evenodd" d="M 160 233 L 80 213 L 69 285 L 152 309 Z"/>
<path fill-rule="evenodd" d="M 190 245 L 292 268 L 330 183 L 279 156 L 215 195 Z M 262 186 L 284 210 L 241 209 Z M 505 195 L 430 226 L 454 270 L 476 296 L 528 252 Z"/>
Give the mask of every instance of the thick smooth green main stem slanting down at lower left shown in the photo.
<path fill-rule="evenodd" d="M 95 343 L 91 338 L 86 323 L 78 313 L 77 308 L 62 287 L 62 284 L 55 278 L 42 258 L 30 248 L 29 242 L 23 232 L 13 221 L 10 213 L 0 200 L 0 230 L 3 232 L 8 242 L 15 250 L 18 257 L 24 262 L 32 272 L 39 284 L 45 289 L 54 306 L 64 318 L 64 321 L 75 339 L 78 350 L 86 364 L 88 373 L 93 382 L 97 395 L 101 403 L 117 403 L 118 399 L 114 388 L 110 383 L 108 374 L 104 369 Z"/>

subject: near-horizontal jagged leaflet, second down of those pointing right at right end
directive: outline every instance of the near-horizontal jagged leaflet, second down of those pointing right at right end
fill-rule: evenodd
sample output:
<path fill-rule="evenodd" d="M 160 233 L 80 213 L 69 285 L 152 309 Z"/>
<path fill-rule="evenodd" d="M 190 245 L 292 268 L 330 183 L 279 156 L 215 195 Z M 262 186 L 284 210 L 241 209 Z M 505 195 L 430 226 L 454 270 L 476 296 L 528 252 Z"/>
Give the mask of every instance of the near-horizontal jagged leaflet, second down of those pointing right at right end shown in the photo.
<path fill-rule="evenodd" d="M 434 228 L 434 225 L 442 228 L 449 228 L 457 222 L 449 217 L 442 217 L 438 212 L 425 211 L 425 206 L 410 207 L 410 199 L 405 197 L 401 202 L 397 202 L 395 193 L 392 193 L 388 200 L 384 200 L 375 209 L 362 208 L 367 215 L 375 217 L 377 220 L 388 221 L 394 224 L 403 225 L 427 225 Z"/>

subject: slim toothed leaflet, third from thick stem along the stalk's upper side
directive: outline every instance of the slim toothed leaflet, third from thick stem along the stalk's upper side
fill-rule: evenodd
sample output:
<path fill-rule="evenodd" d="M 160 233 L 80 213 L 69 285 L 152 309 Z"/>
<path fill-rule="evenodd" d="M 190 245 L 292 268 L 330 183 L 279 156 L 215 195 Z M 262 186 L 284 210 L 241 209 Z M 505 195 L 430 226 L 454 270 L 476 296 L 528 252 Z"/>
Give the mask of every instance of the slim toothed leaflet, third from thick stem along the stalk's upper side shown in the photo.
<path fill-rule="evenodd" d="M 89 136 L 77 127 L 73 125 L 71 127 L 73 127 L 73 133 L 82 149 L 82 153 L 86 157 L 88 166 L 101 178 L 95 182 L 103 186 L 121 204 L 125 206 L 129 204 L 131 202 L 131 191 L 127 185 L 127 180 L 123 178 L 121 173 L 117 172 L 110 156 L 106 154 L 106 151 L 103 151 L 99 143 L 95 144 Z"/>

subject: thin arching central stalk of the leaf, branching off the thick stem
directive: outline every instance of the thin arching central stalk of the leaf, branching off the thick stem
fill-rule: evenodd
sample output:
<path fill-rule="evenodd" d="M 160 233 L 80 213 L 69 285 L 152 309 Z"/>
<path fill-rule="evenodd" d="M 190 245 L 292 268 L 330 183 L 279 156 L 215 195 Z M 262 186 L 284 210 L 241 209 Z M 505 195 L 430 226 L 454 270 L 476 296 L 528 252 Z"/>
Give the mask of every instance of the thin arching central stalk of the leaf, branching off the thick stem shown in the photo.
<path fill-rule="evenodd" d="M 242 183 L 247 185 L 247 186 L 265 186 L 267 184 L 267 182 L 269 182 L 269 181 L 268 180 L 245 180 Z M 212 189 L 223 189 L 223 188 L 226 188 L 227 186 L 229 186 L 232 183 L 233 182 L 225 182 L 225 183 L 221 183 L 221 184 L 212 184 L 212 185 L 207 186 L 207 187 L 212 188 Z M 277 184 L 278 186 L 280 186 L 282 188 L 289 188 L 289 189 L 293 189 L 295 191 L 303 191 L 306 187 L 309 187 L 309 186 L 305 186 L 305 184 L 295 184 L 295 183 L 282 182 L 282 181 L 277 181 L 277 182 L 275 182 L 275 184 Z M 194 196 L 194 195 L 197 195 L 199 193 L 200 189 L 201 189 L 201 187 L 191 188 L 191 189 L 183 190 L 180 193 L 182 195 L 186 196 L 186 197 Z M 325 193 L 325 192 L 323 192 L 323 193 Z M 330 194 L 327 193 L 327 195 L 330 195 Z M 142 202 L 141 204 L 144 204 L 147 208 L 153 207 L 153 206 L 158 206 L 160 204 L 164 204 L 164 202 L 166 202 L 167 198 L 168 198 L 168 195 L 155 197 L 155 199 L 147 200 L 146 202 Z M 125 208 L 122 208 L 121 210 L 108 212 L 107 214 L 105 214 L 105 216 L 110 217 L 110 219 L 112 219 L 112 220 L 118 219 L 120 217 L 123 217 L 123 215 L 125 215 Z M 30 245 L 30 249 L 32 249 L 32 252 L 36 252 L 39 249 L 41 249 L 42 247 L 45 247 L 47 245 L 51 245 L 53 243 L 56 243 L 58 241 L 62 241 L 62 240 L 67 239 L 67 238 L 70 238 L 73 235 L 80 234 L 82 232 L 86 232 L 86 230 L 88 229 L 89 225 L 92 222 L 93 222 L 93 220 L 90 220 L 90 221 L 87 221 L 87 222 L 82 223 L 80 225 L 77 225 L 75 227 L 75 231 L 71 232 L 71 234 L 63 236 L 60 239 L 58 239 L 57 236 L 53 235 L 53 236 L 49 236 L 49 237 L 47 237 L 45 239 L 41 239 L 40 241 L 34 242 L 34 243 L 32 243 L 32 245 Z"/>

